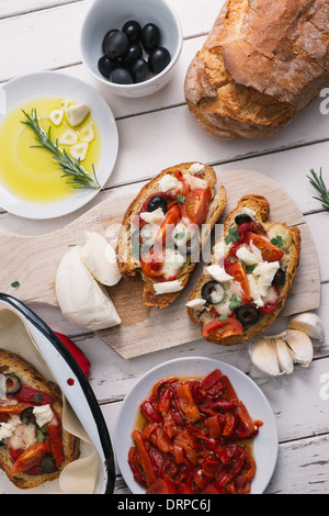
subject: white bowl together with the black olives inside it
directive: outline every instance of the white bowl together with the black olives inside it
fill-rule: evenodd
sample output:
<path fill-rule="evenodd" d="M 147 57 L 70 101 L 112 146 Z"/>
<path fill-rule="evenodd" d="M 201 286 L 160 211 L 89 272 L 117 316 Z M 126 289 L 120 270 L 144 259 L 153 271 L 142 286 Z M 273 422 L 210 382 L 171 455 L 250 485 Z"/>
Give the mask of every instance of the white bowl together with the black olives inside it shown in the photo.
<path fill-rule="evenodd" d="M 166 0 L 95 0 L 81 33 L 90 74 L 121 97 L 145 97 L 172 78 L 183 43 Z"/>

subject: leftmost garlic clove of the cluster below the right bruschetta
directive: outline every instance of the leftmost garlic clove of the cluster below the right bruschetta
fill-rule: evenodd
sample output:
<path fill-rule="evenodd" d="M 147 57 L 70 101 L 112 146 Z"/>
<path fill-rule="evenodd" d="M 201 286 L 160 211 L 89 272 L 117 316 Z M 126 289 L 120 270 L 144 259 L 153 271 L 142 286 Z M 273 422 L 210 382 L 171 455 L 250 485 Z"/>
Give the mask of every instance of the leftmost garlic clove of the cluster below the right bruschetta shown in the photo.
<path fill-rule="evenodd" d="M 262 337 L 253 345 L 251 350 L 253 366 L 268 377 L 279 377 L 281 373 L 276 356 L 275 341 L 272 338 Z"/>

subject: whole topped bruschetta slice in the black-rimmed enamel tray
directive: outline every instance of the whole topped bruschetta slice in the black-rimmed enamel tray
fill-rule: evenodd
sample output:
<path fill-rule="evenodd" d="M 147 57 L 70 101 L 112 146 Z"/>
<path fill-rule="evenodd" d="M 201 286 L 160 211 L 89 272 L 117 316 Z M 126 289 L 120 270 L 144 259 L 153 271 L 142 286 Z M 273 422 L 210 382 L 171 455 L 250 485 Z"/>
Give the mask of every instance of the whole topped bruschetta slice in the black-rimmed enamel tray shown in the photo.
<path fill-rule="evenodd" d="M 57 479 L 79 457 L 63 428 L 59 388 L 16 354 L 0 349 L 0 467 L 19 489 Z"/>

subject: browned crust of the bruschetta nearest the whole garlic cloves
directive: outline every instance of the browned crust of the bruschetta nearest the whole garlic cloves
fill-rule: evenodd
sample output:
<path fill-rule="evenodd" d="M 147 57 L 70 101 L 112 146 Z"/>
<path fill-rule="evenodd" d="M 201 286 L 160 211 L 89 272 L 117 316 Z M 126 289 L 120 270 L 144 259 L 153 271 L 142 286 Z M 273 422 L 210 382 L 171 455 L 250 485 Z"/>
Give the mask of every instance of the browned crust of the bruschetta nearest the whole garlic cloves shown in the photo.
<path fill-rule="evenodd" d="M 262 315 L 257 324 L 251 325 L 249 327 L 245 327 L 241 335 L 232 335 L 230 337 L 226 337 L 222 339 L 216 339 L 213 336 L 206 337 L 206 340 L 208 340 L 209 343 L 219 344 L 222 346 L 232 346 L 237 344 L 242 344 L 246 340 L 262 333 L 275 321 L 275 318 L 279 316 L 280 312 L 282 311 L 283 306 L 285 305 L 288 293 L 293 287 L 293 282 L 294 282 L 294 279 L 297 272 L 297 267 L 299 263 L 302 239 L 300 239 L 300 232 L 298 227 L 296 226 L 287 227 L 285 223 L 269 222 L 268 217 L 270 214 L 270 203 L 265 198 L 263 198 L 262 195 L 258 195 L 258 194 L 250 194 L 250 195 L 242 197 L 240 201 L 238 202 L 237 206 L 230 213 L 228 213 L 224 223 L 223 237 L 217 243 L 217 245 L 219 244 L 220 246 L 220 244 L 224 243 L 225 236 L 228 235 L 229 228 L 235 226 L 235 217 L 238 214 L 242 213 L 243 207 L 251 209 L 256 213 L 254 221 L 261 223 L 266 231 L 270 231 L 274 226 L 275 227 L 280 226 L 281 228 L 284 228 L 285 231 L 288 232 L 290 246 L 283 258 L 286 278 L 285 278 L 285 283 L 282 287 L 280 287 L 279 303 L 276 304 L 272 313 Z M 216 262 L 216 256 L 213 257 L 212 263 L 215 263 L 215 262 Z M 196 285 L 194 287 L 189 298 L 189 301 L 202 298 L 201 295 L 202 287 L 211 279 L 212 277 L 208 273 L 204 272 L 198 279 Z M 203 327 L 205 326 L 207 321 L 202 321 L 200 312 L 189 306 L 186 306 L 186 311 L 192 323 L 196 325 L 202 324 Z"/>

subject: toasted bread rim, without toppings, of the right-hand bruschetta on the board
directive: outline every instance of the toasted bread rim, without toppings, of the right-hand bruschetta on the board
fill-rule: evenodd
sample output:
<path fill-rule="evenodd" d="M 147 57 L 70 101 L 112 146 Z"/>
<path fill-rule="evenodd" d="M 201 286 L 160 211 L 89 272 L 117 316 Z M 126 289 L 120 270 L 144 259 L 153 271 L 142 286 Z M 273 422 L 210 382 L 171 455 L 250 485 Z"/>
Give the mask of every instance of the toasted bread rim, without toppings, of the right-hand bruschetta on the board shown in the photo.
<path fill-rule="evenodd" d="M 213 248 L 213 259 L 212 265 L 218 263 L 223 261 L 223 258 L 227 256 L 227 245 L 225 244 L 225 237 L 229 235 L 230 228 L 237 228 L 237 224 L 235 218 L 237 215 L 241 213 L 250 213 L 250 210 L 253 212 L 252 221 L 256 223 L 261 224 L 264 229 L 268 232 L 270 237 L 281 235 L 283 236 L 283 250 L 284 256 L 280 261 L 280 267 L 285 271 L 285 281 L 282 285 L 279 287 L 280 298 L 279 302 L 273 312 L 263 314 L 260 316 L 258 322 L 252 325 L 243 326 L 243 332 L 240 335 L 232 335 L 225 338 L 214 338 L 214 336 L 205 337 L 206 340 L 220 344 L 223 346 L 231 346 L 236 344 L 241 344 L 249 338 L 254 337 L 259 333 L 263 332 L 273 321 L 277 317 L 281 310 L 283 309 L 291 288 L 294 282 L 294 278 L 296 276 L 298 262 L 299 262 L 299 254 L 300 254 L 300 233 L 299 229 L 295 226 L 287 227 L 285 223 L 276 223 L 276 222 L 269 222 L 268 217 L 270 214 L 270 204 L 268 200 L 261 195 L 250 194 L 245 195 L 240 199 L 237 204 L 237 207 L 232 210 L 226 217 L 223 228 L 223 236 L 215 244 Z M 238 261 L 238 260 L 237 260 Z M 200 300 L 202 298 L 202 288 L 205 283 L 212 280 L 211 274 L 205 270 L 201 278 L 198 279 L 195 288 L 193 289 L 189 302 L 192 300 Z M 206 306 L 206 305 L 205 305 Z M 205 325 L 217 318 L 219 315 L 211 313 L 209 310 L 195 310 L 193 307 L 188 306 L 188 314 L 191 321 L 200 325 L 202 324 L 203 328 Z"/>

